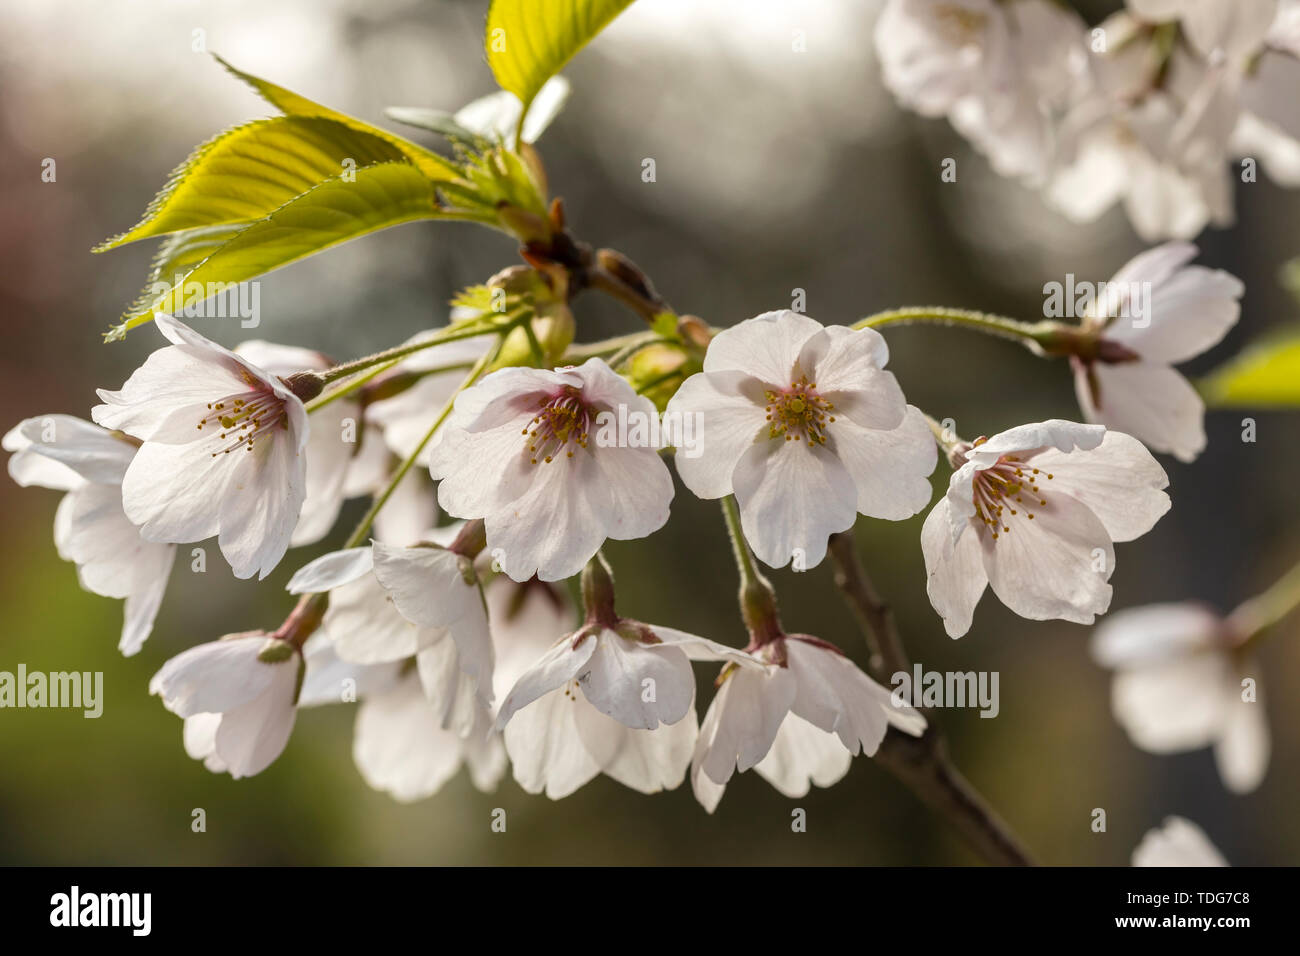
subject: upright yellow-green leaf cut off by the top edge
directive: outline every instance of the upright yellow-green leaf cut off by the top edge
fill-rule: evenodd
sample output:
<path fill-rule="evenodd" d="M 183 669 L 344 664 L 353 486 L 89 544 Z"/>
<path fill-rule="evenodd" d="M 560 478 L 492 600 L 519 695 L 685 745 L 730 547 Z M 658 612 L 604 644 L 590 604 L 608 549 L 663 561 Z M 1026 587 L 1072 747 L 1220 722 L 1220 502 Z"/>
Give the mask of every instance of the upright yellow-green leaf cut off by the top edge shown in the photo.
<path fill-rule="evenodd" d="M 526 116 L 542 85 L 630 3 L 493 0 L 484 36 L 488 65 L 500 87 L 523 100 Z"/>

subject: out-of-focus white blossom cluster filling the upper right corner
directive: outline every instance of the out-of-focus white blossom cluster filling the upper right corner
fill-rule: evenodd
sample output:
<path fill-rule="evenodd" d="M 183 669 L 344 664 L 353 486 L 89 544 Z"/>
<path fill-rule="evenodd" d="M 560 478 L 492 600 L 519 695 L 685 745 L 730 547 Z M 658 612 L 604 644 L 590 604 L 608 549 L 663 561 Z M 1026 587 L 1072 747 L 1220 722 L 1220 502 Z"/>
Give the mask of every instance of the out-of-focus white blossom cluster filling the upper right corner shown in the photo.
<path fill-rule="evenodd" d="M 1144 239 L 1232 221 L 1256 166 L 1300 185 L 1300 3 L 1127 0 L 1089 27 L 1052 0 L 888 0 L 885 85 L 1075 221 Z"/>

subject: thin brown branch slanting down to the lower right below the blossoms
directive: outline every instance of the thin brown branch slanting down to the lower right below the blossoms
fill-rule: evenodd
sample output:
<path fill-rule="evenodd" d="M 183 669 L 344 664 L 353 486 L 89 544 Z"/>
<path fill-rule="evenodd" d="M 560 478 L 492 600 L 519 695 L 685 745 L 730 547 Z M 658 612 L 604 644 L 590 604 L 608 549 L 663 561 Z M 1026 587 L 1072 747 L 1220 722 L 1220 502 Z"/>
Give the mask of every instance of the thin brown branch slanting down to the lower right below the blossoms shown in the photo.
<path fill-rule="evenodd" d="M 893 611 L 880 600 L 867 578 L 866 568 L 858 559 L 852 531 L 832 535 L 829 553 L 835 564 L 836 587 L 844 592 L 871 649 L 870 670 L 888 687 L 892 674 L 911 670 Z M 1034 865 L 1019 838 L 953 765 L 948 756 L 948 741 L 935 723 L 932 711 L 926 711 L 926 732 L 919 737 L 890 727 L 876 750 L 876 762 L 957 827 L 991 864 Z"/>

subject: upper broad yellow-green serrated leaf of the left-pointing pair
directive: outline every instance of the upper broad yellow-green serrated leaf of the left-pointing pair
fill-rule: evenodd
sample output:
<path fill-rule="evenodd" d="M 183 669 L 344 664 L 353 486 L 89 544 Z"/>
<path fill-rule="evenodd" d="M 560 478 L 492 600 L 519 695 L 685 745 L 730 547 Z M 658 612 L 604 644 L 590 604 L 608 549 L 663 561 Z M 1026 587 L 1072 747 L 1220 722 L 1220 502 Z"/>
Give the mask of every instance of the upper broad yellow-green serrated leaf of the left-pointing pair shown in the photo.
<path fill-rule="evenodd" d="M 177 166 L 134 229 L 95 248 L 181 230 L 250 222 L 352 169 L 406 155 L 390 142 L 312 116 L 277 116 L 226 130 Z M 347 165 L 346 165 L 347 164 Z"/>

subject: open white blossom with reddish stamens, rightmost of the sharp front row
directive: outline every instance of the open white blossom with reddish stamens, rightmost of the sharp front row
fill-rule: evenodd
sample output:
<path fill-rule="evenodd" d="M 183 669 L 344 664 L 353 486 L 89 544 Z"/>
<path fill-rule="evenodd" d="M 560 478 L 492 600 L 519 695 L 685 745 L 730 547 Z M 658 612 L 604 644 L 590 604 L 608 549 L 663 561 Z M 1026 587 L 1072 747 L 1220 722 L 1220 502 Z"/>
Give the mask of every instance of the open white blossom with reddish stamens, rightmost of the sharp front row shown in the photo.
<path fill-rule="evenodd" d="M 1117 541 L 1169 510 L 1169 479 L 1136 438 L 1053 419 L 954 449 L 920 532 L 930 601 L 950 637 L 992 587 L 1023 618 L 1091 624 L 1110 606 Z"/>

